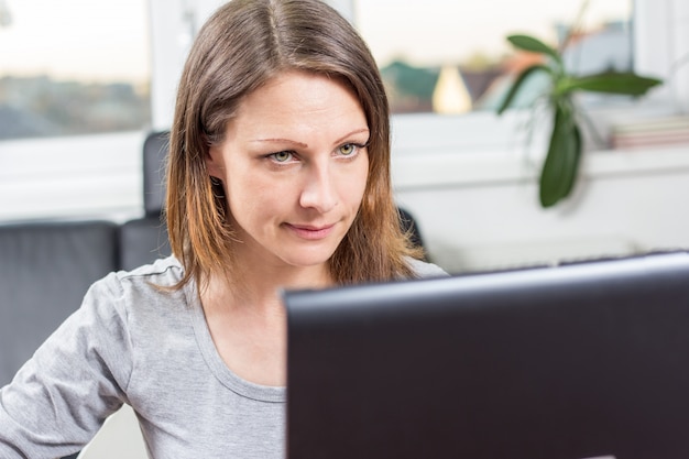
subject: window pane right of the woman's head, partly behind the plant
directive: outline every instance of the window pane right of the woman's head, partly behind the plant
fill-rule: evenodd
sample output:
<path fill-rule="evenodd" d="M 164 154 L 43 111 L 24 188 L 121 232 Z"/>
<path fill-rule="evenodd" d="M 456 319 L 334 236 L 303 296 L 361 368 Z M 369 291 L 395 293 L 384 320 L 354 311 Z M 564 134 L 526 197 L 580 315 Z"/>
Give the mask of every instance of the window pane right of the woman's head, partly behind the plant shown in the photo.
<path fill-rule="evenodd" d="M 535 58 L 515 53 L 506 36 L 526 33 L 559 46 L 579 17 L 582 28 L 566 53 L 570 69 L 632 69 L 632 0 L 356 3 L 357 25 L 381 66 L 397 113 L 494 109 L 510 78 Z M 518 105 L 529 105 L 545 84 L 535 74 Z"/>

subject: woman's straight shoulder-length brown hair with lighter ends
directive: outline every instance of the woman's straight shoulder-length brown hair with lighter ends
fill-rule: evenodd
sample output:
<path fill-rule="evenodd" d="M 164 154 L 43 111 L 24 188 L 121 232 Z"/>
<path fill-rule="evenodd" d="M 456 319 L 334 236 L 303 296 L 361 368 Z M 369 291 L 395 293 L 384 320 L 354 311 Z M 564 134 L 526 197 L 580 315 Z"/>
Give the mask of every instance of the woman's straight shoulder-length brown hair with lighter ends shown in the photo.
<path fill-rule="evenodd" d="M 211 273 L 232 276 L 236 243 L 221 185 L 206 168 L 209 146 L 251 91 L 285 69 L 324 74 L 354 91 L 371 132 L 369 178 L 359 215 L 329 261 L 339 284 L 412 277 L 420 255 L 400 229 L 390 177 L 390 113 L 369 48 L 318 0 L 232 0 L 206 22 L 187 58 L 169 139 L 166 218 L 178 286 Z"/>

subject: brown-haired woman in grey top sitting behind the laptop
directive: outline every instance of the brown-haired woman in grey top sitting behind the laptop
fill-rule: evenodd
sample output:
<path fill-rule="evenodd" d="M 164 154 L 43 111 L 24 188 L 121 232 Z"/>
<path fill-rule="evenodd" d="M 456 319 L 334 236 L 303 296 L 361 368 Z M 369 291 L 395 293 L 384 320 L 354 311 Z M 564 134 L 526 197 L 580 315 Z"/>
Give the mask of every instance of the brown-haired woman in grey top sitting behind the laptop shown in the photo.
<path fill-rule="evenodd" d="M 400 230 L 387 102 L 317 0 L 233 0 L 199 32 L 167 172 L 174 256 L 97 282 L 0 392 L 0 457 L 78 450 L 122 403 L 153 458 L 281 458 L 281 288 L 442 275 Z"/>

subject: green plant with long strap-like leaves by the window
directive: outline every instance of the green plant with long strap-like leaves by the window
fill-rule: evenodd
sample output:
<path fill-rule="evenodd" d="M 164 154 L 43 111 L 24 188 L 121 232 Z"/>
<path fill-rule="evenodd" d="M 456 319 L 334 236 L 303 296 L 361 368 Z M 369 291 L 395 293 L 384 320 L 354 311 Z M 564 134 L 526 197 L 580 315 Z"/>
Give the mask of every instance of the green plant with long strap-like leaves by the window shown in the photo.
<path fill-rule="evenodd" d="M 561 51 L 528 35 L 510 35 L 507 41 L 518 50 L 538 53 L 546 64 L 535 64 L 524 69 L 515 79 L 497 109 L 503 113 L 513 102 L 522 84 L 532 74 L 544 72 L 550 78 L 546 90 L 548 107 L 553 110 L 553 131 L 539 178 L 539 198 L 543 207 L 550 207 L 571 193 L 583 149 L 580 123 L 583 113 L 576 105 L 578 91 L 595 91 L 616 95 L 642 96 L 661 81 L 628 73 L 604 72 L 576 76 L 565 68 Z"/>

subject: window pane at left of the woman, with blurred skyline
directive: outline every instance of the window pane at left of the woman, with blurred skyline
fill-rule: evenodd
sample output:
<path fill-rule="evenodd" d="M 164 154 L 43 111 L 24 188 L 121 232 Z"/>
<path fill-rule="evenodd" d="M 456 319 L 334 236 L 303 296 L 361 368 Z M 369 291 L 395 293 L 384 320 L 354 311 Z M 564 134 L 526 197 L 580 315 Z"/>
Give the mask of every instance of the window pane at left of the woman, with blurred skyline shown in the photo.
<path fill-rule="evenodd" d="M 146 0 L 0 0 L 0 139 L 150 124 Z"/>

